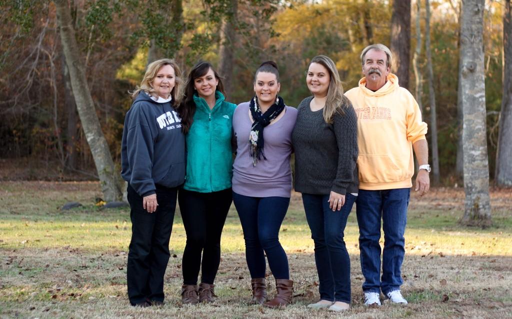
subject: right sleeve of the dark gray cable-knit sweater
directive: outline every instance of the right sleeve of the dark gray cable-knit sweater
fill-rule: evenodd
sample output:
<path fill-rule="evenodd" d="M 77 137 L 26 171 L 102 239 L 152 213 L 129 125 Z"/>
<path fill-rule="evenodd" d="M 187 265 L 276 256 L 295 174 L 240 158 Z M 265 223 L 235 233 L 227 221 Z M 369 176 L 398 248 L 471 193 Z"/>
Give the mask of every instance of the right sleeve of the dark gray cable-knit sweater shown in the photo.
<path fill-rule="evenodd" d="M 347 100 L 345 114 L 334 116 L 334 134 L 338 146 L 338 166 L 336 178 L 333 181 L 331 191 L 345 195 L 351 183 L 354 183 L 354 171 L 356 169 L 357 148 L 357 118 L 354 108 Z"/>

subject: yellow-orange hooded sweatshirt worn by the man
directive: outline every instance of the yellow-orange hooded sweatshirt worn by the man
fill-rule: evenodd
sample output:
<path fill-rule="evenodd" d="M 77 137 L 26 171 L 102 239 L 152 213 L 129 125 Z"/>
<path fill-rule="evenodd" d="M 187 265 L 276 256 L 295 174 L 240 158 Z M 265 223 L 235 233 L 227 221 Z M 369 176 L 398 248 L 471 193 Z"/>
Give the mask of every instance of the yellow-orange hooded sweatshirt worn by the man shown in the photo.
<path fill-rule="evenodd" d="M 414 97 L 391 73 L 376 92 L 362 78 L 345 95 L 357 115 L 359 189 L 412 187 L 412 144 L 424 140 L 427 130 Z"/>

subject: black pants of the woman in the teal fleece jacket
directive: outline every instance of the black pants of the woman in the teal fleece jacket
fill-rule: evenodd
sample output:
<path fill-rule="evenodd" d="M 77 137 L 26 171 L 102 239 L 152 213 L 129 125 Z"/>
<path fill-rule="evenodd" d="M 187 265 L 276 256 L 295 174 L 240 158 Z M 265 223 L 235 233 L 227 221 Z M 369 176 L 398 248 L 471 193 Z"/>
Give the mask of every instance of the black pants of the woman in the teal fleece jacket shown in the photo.
<path fill-rule="evenodd" d="M 181 217 L 187 234 L 183 252 L 183 284 L 196 285 L 201 268 L 201 282 L 213 284 L 221 260 L 221 235 L 231 206 L 231 189 L 198 193 L 180 189 Z"/>

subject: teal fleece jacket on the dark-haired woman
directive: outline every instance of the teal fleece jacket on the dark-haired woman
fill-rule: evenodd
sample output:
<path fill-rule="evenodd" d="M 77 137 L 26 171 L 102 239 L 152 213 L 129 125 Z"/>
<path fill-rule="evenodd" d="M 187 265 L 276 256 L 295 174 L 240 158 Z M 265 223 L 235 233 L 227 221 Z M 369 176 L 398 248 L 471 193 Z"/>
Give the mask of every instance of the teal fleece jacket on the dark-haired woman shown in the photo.
<path fill-rule="evenodd" d="M 215 92 L 215 106 L 210 110 L 203 98 L 194 95 L 196 112 L 186 135 L 187 165 L 183 188 L 210 193 L 231 187 L 232 119 L 236 104 L 224 101 Z"/>

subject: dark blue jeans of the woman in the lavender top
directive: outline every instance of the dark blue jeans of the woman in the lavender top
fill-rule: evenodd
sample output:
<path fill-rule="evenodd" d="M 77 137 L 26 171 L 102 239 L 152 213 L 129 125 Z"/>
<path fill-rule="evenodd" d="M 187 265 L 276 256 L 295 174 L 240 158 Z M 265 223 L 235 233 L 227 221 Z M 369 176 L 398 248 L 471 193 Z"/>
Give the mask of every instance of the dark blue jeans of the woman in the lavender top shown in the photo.
<path fill-rule="evenodd" d="M 245 240 L 245 259 L 251 278 L 265 278 L 265 254 L 275 279 L 290 279 L 288 258 L 279 242 L 279 229 L 290 198 L 250 197 L 233 192 Z"/>

